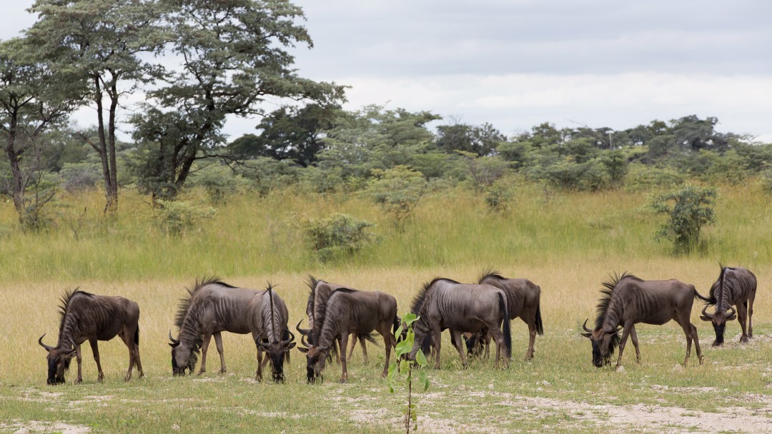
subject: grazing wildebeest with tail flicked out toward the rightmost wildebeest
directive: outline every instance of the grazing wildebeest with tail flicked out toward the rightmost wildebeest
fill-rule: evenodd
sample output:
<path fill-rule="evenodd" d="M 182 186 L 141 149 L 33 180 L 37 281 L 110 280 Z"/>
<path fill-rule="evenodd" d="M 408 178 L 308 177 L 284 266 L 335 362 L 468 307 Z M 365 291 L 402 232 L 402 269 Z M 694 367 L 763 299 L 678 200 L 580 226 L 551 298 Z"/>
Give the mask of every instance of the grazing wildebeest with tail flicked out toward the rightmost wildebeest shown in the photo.
<path fill-rule="evenodd" d="M 614 276 L 611 281 L 604 282 L 598 300 L 595 328 L 587 328 L 584 320 L 585 338 L 592 343 L 592 363 L 600 368 L 611 363 L 611 355 L 619 346 L 619 358 L 616 368 L 622 360 L 625 342 L 628 335 L 635 346 L 635 360 L 641 362 L 641 352 L 638 350 L 638 335 L 635 335 L 635 324 L 663 325 L 670 320 L 677 322 L 686 335 L 686 358 L 683 364 L 689 362 L 692 352 L 692 340 L 697 350 L 699 364 L 703 364 L 703 353 L 699 350 L 697 328 L 689 322 L 692 315 L 694 298 L 707 301 L 691 284 L 670 279 L 669 281 L 644 281 L 634 275 L 624 273 Z M 589 319 L 589 318 L 588 318 Z M 621 338 L 619 331 L 622 331 Z"/>

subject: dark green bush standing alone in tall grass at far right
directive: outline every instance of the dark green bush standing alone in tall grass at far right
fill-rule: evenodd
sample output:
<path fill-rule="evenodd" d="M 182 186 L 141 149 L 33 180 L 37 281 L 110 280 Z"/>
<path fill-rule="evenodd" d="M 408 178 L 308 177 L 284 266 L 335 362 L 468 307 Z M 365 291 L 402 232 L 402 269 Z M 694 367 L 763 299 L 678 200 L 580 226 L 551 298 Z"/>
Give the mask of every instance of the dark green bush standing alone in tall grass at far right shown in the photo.
<path fill-rule="evenodd" d="M 677 254 L 694 251 L 699 247 L 700 228 L 716 220 L 713 210 L 716 197 L 715 188 L 692 185 L 652 197 L 652 209 L 657 214 L 669 216 L 669 221 L 657 231 L 656 238 L 672 241 Z"/>

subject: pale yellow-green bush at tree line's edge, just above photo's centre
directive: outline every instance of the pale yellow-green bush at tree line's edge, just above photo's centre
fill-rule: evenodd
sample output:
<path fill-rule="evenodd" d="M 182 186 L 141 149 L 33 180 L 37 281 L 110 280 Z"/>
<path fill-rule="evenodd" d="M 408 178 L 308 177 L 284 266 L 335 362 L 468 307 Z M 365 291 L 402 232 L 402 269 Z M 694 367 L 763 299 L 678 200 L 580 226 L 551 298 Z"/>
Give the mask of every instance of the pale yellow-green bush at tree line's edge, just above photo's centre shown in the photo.
<path fill-rule="evenodd" d="M 404 227 L 426 192 L 426 180 L 421 173 L 405 166 L 373 170 L 373 174 L 375 178 L 367 183 L 367 193 L 381 205 L 395 227 Z"/>

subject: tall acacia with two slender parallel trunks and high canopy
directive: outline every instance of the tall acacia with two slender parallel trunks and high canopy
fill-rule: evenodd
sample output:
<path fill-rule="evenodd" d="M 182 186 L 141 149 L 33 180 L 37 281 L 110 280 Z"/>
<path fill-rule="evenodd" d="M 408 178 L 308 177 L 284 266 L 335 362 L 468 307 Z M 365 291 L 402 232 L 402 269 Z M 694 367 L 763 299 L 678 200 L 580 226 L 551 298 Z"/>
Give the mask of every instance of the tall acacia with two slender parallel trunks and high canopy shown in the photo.
<path fill-rule="evenodd" d="M 29 37 L 61 70 L 72 71 L 90 86 L 96 109 L 97 138 L 83 137 L 99 153 L 105 211 L 118 207 L 116 130 L 120 100 L 147 79 L 150 66 L 141 53 L 157 49 L 154 0 L 37 0 L 30 8 L 40 19 Z M 107 114 L 107 119 L 105 119 Z"/>

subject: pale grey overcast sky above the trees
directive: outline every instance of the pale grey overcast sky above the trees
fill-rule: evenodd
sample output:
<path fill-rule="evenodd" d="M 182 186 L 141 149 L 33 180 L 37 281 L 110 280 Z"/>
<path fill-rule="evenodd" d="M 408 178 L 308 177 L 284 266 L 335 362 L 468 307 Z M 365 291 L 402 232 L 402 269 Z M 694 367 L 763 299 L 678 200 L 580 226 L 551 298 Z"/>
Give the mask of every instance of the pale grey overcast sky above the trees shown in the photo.
<path fill-rule="evenodd" d="M 3 3 L 0 39 L 32 25 L 32 0 Z M 622 130 L 696 114 L 772 143 L 772 2 L 294 3 L 314 42 L 295 51 L 299 74 L 351 86 L 347 109 L 428 110 L 507 136 L 543 122 Z"/>

